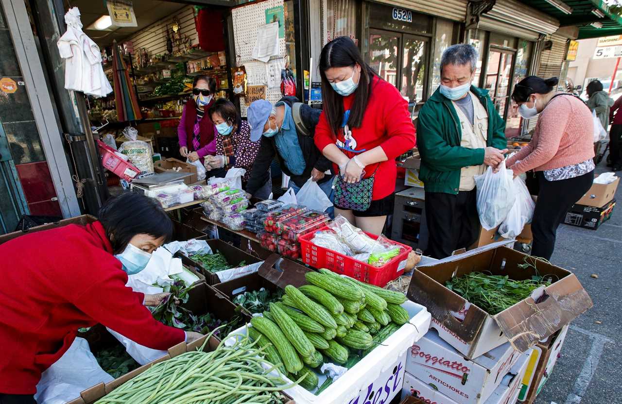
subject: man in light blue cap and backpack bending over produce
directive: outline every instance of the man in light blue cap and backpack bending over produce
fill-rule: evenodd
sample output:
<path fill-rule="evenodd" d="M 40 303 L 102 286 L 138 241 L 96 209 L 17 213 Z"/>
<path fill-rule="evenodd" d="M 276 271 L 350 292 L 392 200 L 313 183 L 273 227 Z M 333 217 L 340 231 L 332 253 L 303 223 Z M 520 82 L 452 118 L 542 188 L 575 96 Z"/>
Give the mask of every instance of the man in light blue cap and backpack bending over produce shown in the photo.
<path fill-rule="evenodd" d="M 274 106 L 265 99 L 251 103 L 247 111 L 251 141 L 261 138 L 261 145 L 246 192 L 253 195 L 267 181 L 272 159 L 276 156 L 282 172 L 289 175 L 289 186 L 295 193 L 312 178 L 331 198 L 333 177 L 325 172 L 332 168 L 332 163 L 313 142 L 321 112 L 299 103 L 295 97 L 281 98 Z"/>

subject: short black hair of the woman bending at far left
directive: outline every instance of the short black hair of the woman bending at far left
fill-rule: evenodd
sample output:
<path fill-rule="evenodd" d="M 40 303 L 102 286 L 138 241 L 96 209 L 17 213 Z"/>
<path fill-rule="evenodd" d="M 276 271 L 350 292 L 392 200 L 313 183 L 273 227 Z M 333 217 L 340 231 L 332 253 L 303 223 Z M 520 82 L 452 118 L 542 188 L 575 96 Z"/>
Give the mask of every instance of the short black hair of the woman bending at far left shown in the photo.
<path fill-rule="evenodd" d="M 136 234 L 164 237 L 165 242 L 173 236 L 173 222 L 158 201 L 134 191 L 110 198 L 98 217 L 114 254 L 122 252 Z"/>

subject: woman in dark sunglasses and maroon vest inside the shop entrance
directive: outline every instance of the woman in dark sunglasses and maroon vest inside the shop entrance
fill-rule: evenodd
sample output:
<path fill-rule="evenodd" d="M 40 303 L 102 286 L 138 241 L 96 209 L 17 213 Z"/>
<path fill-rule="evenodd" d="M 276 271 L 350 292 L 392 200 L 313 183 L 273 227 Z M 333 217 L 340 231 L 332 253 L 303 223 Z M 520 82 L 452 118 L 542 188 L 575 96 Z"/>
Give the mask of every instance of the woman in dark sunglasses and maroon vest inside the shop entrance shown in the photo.
<path fill-rule="evenodd" d="M 190 162 L 201 160 L 216 153 L 216 130 L 207 114 L 214 103 L 216 80 L 208 76 L 196 76 L 192 83 L 192 98 L 183 107 L 182 119 L 177 127 L 179 154 Z"/>

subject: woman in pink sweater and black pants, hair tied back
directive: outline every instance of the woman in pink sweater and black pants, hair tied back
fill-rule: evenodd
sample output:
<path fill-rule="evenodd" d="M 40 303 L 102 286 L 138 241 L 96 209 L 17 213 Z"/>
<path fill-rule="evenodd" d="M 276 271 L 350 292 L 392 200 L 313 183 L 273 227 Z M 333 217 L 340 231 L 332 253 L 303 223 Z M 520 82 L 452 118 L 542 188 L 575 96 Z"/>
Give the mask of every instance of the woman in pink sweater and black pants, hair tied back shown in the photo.
<path fill-rule="evenodd" d="M 529 76 L 514 86 L 512 99 L 521 116 L 540 117 L 529 145 L 507 162 L 514 175 L 536 172 L 539 191 L 531 221 L 531 255 L 547 260 L 555 249 L 557 227 L 594 179 L 592 113 L 576 96 L 558 94 L 557 80 Z"/>

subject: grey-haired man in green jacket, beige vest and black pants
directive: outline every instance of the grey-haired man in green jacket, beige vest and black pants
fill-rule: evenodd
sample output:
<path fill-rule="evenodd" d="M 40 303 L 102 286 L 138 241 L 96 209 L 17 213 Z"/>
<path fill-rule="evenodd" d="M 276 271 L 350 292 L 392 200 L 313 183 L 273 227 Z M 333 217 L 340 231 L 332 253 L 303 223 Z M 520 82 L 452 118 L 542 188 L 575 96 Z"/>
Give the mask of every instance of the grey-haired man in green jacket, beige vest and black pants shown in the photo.
<path fill-rule="evenodd" d="M 476 175 L 498 169 L 508 150 L 505 122 L 488 91 L 473 85 L 477 52 L 471 45 L 448 47 L 440 62 L 439 89 L 417 117 L 419 177 L 425 184 L 426 255 L 437 259 L 477 241 L 480 219 Z"/>

